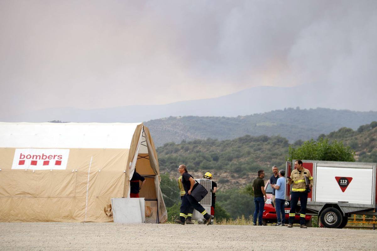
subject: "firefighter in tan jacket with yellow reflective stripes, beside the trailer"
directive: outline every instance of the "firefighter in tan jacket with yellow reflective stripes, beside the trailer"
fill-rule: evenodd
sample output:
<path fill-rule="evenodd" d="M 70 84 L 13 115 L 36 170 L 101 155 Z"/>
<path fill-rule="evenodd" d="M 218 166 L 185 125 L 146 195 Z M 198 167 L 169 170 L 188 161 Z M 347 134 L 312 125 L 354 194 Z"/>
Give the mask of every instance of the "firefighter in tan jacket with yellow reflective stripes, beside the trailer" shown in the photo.
<path fill-rule="evenodd" d="M 300 227 L 307 228 L 305 225 L 305 212 L 308 201 L 308 192 L 313 187 L 313 177 L 310 175 L 308 169 L 303 168 L 302 161 L 296 160 L 294 162 L 295 169 L 292 171 L 291 176 L 288 178 L 288 184 L 293 184 L 291 193 L 291 210 L 289 211 L 289 224 L 288 227 L 293 227 L 294 216 L 296 214 L 297 202 L 301 204 L 300 210 Z M 307 177 L 309 184 L 305 182 Z"/>

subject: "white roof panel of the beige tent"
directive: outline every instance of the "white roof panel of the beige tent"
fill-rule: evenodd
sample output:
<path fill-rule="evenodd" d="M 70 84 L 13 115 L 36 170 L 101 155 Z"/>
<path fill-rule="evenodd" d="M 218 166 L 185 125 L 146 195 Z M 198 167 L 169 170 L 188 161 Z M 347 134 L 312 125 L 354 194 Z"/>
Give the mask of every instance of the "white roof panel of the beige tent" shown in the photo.
<path fill-rule="evenodd" d="M 0 147 L 129 149 L 140 124 L 0 122 Z"/>

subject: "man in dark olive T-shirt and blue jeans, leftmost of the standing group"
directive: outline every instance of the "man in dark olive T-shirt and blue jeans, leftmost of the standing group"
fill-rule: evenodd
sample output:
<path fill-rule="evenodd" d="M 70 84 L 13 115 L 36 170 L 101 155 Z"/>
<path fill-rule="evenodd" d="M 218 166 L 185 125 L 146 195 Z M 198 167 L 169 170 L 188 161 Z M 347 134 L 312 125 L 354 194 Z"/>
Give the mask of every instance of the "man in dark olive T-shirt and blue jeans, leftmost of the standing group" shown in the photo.
<path fill-rule="evenodd" d="M 257 225 L 257 217 L 258 217 L 258 225 L 263 226 L 262 216 L 263 216 L 264 202 L 267 200 L 267 195 L 264 190 L 263 178 L 264 178 L 264 170 L 259 170 L 258 177 L 253 181 L 254 204 L 255 204 L 255 211 L 254 211 L 254 217 L 253 217 L 254 226 Z"/>

